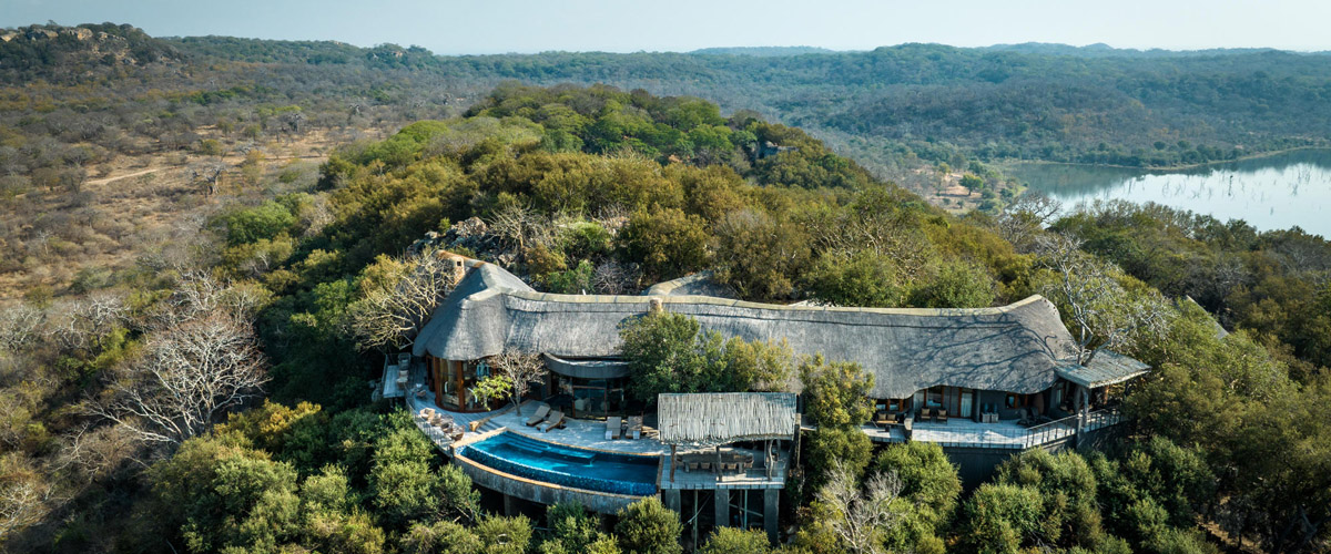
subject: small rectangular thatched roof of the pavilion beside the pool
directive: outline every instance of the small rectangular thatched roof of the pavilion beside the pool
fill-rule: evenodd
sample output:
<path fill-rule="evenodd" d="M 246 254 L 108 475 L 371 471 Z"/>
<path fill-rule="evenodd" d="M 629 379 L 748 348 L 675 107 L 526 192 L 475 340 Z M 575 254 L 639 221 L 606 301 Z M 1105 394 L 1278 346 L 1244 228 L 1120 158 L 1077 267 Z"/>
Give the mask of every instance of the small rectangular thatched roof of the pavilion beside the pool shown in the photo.
<path fill-rule="evenodd" d="M 656 413 L 660 441 L 676 445 L 793 438 L 799 424 L 789 392 L 658 395 Z"/>

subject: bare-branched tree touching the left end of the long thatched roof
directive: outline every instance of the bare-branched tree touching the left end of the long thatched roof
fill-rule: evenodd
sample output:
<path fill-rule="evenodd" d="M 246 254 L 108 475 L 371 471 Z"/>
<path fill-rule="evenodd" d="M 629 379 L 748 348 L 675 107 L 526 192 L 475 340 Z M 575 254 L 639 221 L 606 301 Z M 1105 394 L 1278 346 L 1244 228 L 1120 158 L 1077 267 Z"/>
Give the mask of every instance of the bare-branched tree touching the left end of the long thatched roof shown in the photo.
<path fill-rule="evenodd" d="M 415 340 L 458 284 L 453 260 L 439 254 L 425 250 L 391 260 L 389 278 L 351 306 L 351 331 L 361 348 L 405 348 Z"/>

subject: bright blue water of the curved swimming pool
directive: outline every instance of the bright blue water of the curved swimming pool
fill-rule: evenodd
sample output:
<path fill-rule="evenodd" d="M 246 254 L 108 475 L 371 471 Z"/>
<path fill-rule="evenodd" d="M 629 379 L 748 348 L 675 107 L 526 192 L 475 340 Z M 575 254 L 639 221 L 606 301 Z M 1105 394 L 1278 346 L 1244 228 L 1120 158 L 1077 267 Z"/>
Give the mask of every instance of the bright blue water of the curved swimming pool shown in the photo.
<path fill-rule="evenodd" d="M 628 456 L 499 433 L 462 446 L 459 456 L 535 481 L 614 494 L 656 494 L 656 456 Z"/>

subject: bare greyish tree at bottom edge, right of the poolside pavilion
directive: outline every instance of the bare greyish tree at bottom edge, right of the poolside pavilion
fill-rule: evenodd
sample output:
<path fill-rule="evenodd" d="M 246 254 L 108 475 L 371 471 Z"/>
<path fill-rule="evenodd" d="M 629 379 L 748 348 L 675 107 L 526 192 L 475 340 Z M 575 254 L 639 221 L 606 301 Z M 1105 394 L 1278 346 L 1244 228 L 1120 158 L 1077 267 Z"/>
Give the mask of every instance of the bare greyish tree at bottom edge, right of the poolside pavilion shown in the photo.
<path fill-rule="evenodd" d="M 845 462 L 837 460 L 828 482 L 819 489 L 817 500 L 836 514 L 827 521 L 828 529 L 855 554 L 880 554 L 882 535 L 896 527 L 900 514 L 892 502 L 901 494 L 901 480 L 896 472 L 873 473 L 864 492 Z"/>

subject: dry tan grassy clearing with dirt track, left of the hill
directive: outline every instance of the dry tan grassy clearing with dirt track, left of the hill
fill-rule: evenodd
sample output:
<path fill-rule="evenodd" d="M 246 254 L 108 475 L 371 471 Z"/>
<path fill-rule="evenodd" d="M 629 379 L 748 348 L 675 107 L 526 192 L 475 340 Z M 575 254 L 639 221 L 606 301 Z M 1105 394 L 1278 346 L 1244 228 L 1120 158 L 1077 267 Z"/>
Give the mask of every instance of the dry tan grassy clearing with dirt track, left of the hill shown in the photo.
<path fill-rule="evenodd" d="M 206 132 L 201 134 L 208 137 Z M 337 142 L 314 130 L 260 143 L 265 154 L 261 177 L 249 186 L 237 169 L 245 158 L 232 151 L 224 157 L 121 155 L 87 167 L 92 178 L 77 194 L 29 190 L 0 205 L 4 217 L 12 218 L 8 226 L 0 226 L 0 302 L 43 287 L 63 294 L 80 271 L 110 275 L 130 270 L 142 255 L 162 250 L 182 231 L 198 232 L 198 222 L 225 206 L 270 194 L 284 167 L 299 163 L 311 170 Z M 217 194 L 208 195 L 194 179 L 192 167 L 200 163 L 230 167 Z"/>

